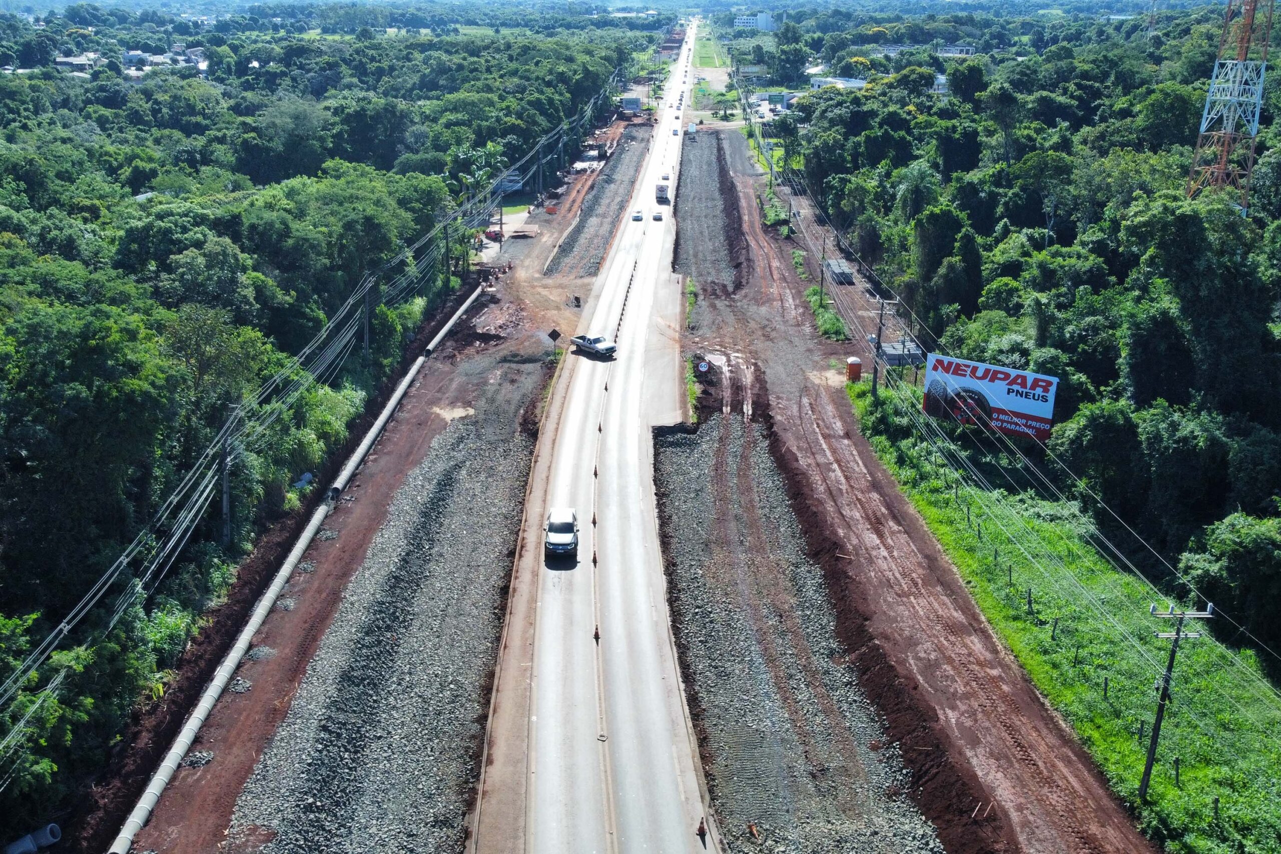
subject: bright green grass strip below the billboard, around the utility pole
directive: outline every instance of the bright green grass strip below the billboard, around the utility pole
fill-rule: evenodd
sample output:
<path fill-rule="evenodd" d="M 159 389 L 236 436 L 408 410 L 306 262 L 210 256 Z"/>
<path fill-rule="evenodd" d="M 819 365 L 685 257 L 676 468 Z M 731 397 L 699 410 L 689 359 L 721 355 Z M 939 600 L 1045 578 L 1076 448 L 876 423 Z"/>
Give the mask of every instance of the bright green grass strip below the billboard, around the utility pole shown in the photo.
<path fill-rule="evenodd" d="M 1170 654 L 1170 641 L 1153 632 L 1172 630 L 1148 607 L 1170 600 L 1099 556 L 1076 504 L 963 484 L 954 490 L 938 453 L 912 433 L 906 407 L 920 410 L 915 392 L 883 391 L 874 406 L 866 382 L 848 388 L 877 456 L 1144 832 L 1180 854 L 1281 851 L 1281 702 L 1255 656 L 1209 635 L 1182 641 L 1148 803 L 1138 803 L 1146 749 L 1139 729 L 1150 732 L 1154 682 Z M 907 438 L 892 443 L 886 428 Z M 999 476 L 990 461 L 975 462 L 989 483 Z"/>

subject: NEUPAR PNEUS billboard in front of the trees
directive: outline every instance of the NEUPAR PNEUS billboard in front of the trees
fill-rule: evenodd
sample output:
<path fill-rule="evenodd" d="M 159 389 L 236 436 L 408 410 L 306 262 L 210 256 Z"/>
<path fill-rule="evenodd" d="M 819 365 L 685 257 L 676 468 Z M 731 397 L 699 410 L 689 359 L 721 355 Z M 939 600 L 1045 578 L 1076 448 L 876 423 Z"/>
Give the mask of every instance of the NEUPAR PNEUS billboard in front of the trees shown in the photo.
<path fill-rule="evenodd" d="M 1011 435 L 1048 439 L 1054 426 L 1057 376 L 930 353 L 925 414 L 962 424 L 991 424 Z"/>

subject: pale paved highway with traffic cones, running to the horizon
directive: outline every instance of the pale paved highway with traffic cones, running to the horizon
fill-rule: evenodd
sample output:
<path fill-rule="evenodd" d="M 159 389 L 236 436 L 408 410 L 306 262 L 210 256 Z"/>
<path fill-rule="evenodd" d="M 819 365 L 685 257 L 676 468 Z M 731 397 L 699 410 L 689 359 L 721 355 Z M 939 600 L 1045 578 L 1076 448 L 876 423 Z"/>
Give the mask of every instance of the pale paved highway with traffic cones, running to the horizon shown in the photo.
<path fill-rule="evenodd" d="M 707 814 L 705 786 L 671 640 L 651 439 L 653 425 L 679 420 L 683 394 L 675 223 L 655 188 L 666 183 L 675 197 L 693 38 L 692 26 L 578 329 L 615 338 L 616 359 L 567 356 L 535 452 L 474 817 L 477 851 L 716 849 L 715 835 L 706 846 L 696 835 Z M 685 109 L 669 108 L 681 91 Z M 576 561 L 543 558 L 551 507 L 578 512 Z"/>

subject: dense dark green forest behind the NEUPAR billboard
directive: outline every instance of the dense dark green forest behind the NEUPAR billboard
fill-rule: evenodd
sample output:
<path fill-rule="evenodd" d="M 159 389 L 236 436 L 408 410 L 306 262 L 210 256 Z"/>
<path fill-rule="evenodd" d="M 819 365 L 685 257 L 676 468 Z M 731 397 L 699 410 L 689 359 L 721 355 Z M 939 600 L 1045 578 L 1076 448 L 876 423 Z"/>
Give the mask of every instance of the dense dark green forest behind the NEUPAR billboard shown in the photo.
<path fill-rule="evenodd" d="M 770 133 L 922 341 L 1061 376 L 1050 448 L 1281 648 L 1281 88 L 1249 215 L 1226 193 L 1189 201 L 1220 28 L 1214 9 L 1164 14 L 1150 37 L 1145 19 L 824 12 L 770 52 L 871 83 L 798 99 Z M 988 52 L 886 58 L 869 47 L 886 32 Z M 929 92 L 935 73 L 951 97 Z"/>

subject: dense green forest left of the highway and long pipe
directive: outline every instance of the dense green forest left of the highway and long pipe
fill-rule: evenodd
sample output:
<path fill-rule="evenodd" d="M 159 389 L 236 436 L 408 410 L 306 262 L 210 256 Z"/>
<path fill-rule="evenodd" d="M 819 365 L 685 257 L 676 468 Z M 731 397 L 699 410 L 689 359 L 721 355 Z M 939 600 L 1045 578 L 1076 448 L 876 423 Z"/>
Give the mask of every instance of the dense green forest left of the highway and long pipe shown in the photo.
<path fill-rule="evenodd" d="M 0 74 L 4 679 L 145 528 L 231 405 L 242 416 L 266 406 L 254 391 L 297 371 L 290 356 L 366 271 L 653 38 L 611 19 L 565 29 L 562 15 L 526 15 L 534 36 L 503 33 L 502 18 L 459 35 L 456 18 L 269 12 L 277 20 L 213 27 L 88 4 L 38 28 L 0 15 L 0 65 L 31 69 Z M 384 23 L 428 29 L 369 28 Z M 322 26 L 354 35 L 309 32 Z M 208 76 L 196 64 L 127 74 L 124 50 L 178 45 L 202 50 Z M 85 51 L 105 61 L 81 74 L 54 67 Z M 455 239 L 462 254 L 466 234 Z M 0 708 L 0 737 L 19 736 L 0 752 L 0 837 L 56 817 L 140 698 L 164 691 L 256 533 L 298 507 L 314 488 L 301 475 L 346 440 L 456 283 L 433 274 L 416 298 L 379 307 L 369 362 L 350 360 L 264 419 L 232 467 L 229 547 L 209 513 L 159 586 L 117 580 L 127 612 L 114 629 L 109 608 L 95 611 Z M 63 672 L 54 697 L 40 693 Z"/>

